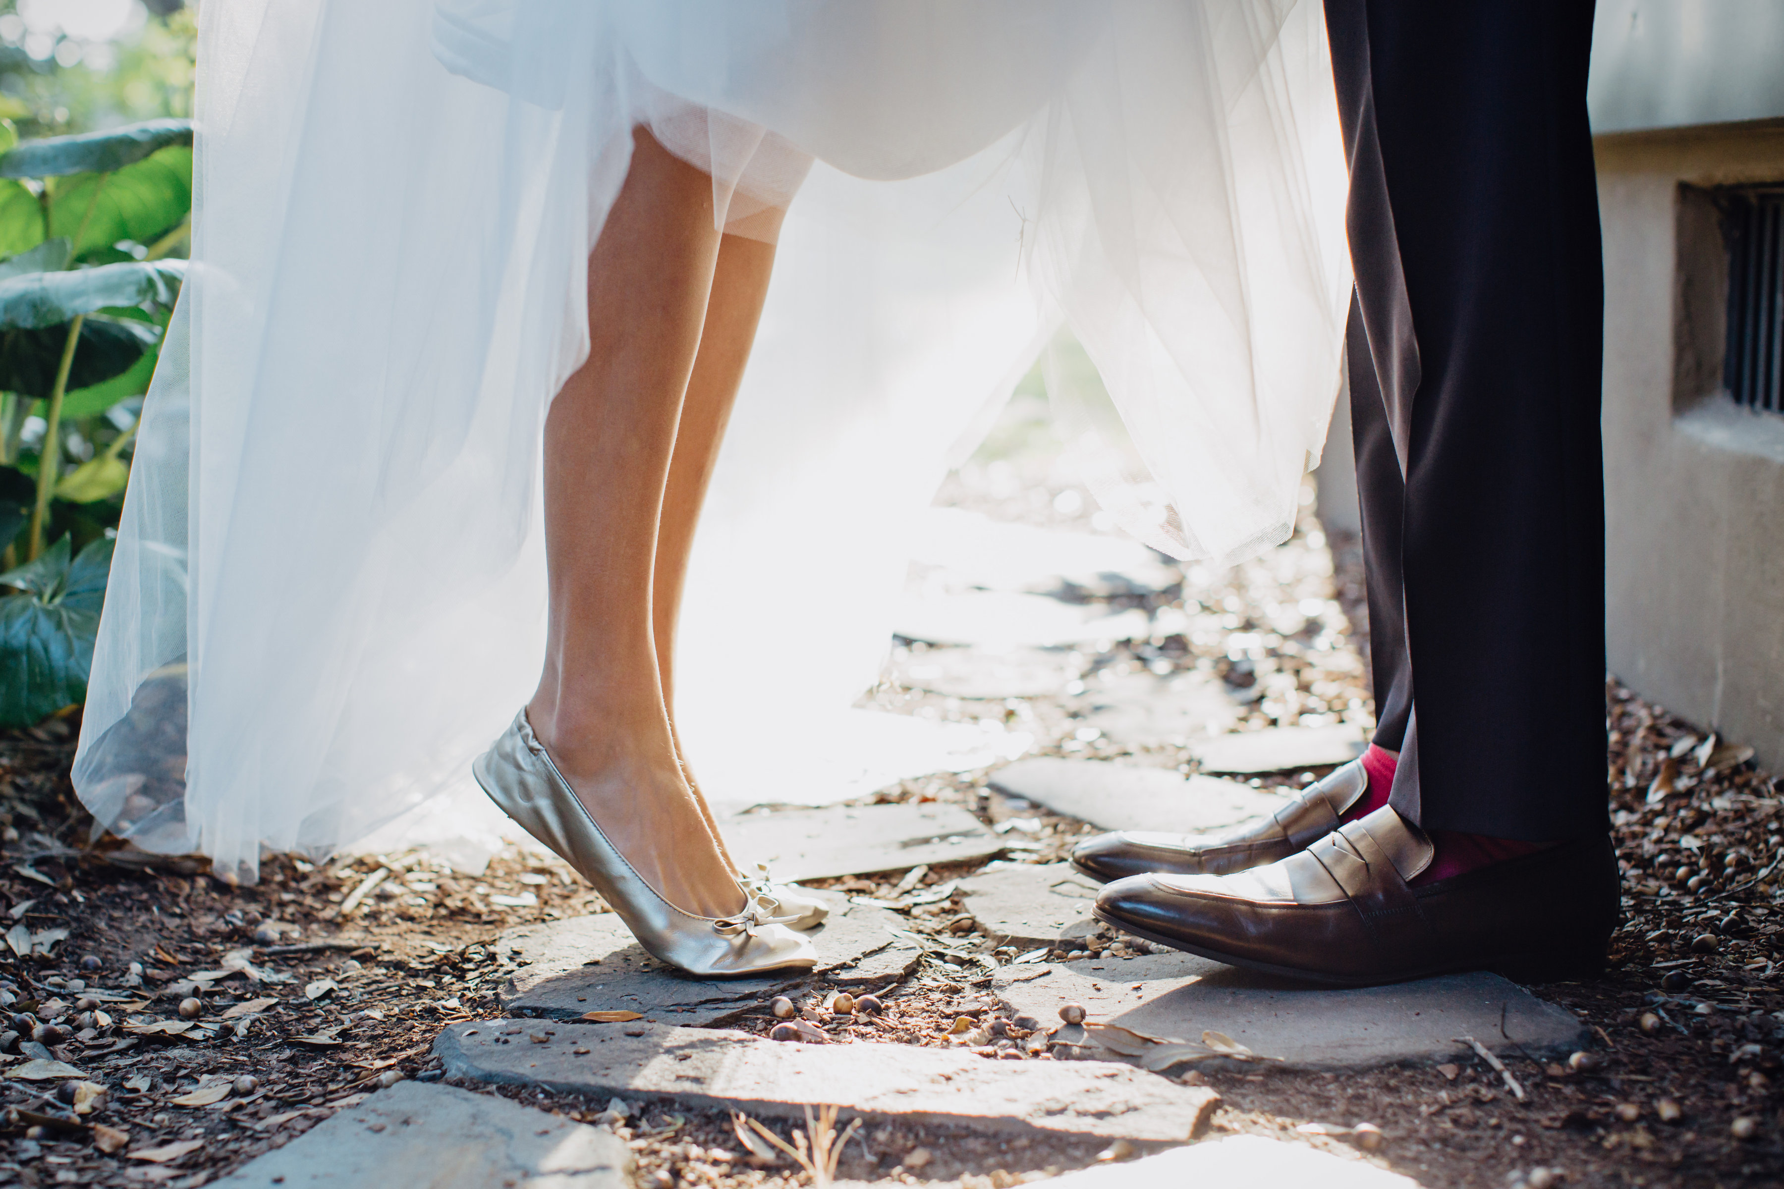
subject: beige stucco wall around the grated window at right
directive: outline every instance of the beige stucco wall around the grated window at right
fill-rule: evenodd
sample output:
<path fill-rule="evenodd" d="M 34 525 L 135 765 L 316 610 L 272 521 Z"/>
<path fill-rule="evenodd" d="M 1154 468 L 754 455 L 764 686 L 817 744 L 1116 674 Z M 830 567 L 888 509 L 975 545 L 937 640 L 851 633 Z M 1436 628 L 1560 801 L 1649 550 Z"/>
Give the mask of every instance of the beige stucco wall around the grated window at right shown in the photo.
<path fill-rule="evenodd" d="M 1597 139 L 1609 661 L 1784 767 L 1784 417 L 1716 392 L 1722 292 L 1695 187 L 1784 180 L 1784 121 Z"/>

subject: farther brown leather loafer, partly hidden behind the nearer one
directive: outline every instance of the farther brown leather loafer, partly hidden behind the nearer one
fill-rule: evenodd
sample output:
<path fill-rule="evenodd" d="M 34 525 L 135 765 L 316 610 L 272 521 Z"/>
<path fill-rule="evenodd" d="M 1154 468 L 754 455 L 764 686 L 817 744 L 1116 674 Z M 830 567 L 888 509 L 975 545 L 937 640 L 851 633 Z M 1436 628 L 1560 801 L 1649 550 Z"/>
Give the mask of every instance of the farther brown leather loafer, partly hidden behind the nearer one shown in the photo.
<path fill-rule="evenodd" d="M 1227 875 L 1286 859 L 1338 829 L 1338 815 L 1368 791 L 1368 772 L 1352 759 L 1324 781 L 1301 790 L 1274 816 L 1227 834 L 1097 834 L 1072 850 L 1072 863 L 1101 882 L 1165 872 Z"/>

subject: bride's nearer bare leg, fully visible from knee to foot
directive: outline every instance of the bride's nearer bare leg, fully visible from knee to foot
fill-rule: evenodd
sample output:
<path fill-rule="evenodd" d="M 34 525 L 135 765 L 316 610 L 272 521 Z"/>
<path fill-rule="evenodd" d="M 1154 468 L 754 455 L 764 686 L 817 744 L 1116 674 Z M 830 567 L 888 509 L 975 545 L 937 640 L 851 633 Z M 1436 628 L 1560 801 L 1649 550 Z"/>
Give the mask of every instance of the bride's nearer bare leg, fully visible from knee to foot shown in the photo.
<path fill-rule="evenodd" d="M 712 180 L 648 132 L 633 141 L 589 257 L 589 362 L 546 417 L 551 613 L 526 709 L 639 873 L 685 911 L 726 916 L 744 893 L 681 777 L 651 633 L 657 526 L 719 234 Z"/>

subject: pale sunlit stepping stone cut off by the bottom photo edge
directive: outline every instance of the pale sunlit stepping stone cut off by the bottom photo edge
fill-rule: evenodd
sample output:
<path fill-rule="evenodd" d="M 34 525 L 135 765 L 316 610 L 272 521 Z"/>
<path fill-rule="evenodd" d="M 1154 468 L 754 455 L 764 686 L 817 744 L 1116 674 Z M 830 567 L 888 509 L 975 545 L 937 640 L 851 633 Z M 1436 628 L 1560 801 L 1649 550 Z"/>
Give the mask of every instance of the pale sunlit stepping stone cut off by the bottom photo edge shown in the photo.
<path fill-rule="evenodd" d="M 1245 1189 L 1418 1189 L 1411 1177 L 1306 1144 L 1231 1136 L 1172 1148 L 1127 1164 L 1101 1164 L 1047 1182 L 1049 1189 L 1135 1189 L 1136 1185 L 1245 1185 Z"/>

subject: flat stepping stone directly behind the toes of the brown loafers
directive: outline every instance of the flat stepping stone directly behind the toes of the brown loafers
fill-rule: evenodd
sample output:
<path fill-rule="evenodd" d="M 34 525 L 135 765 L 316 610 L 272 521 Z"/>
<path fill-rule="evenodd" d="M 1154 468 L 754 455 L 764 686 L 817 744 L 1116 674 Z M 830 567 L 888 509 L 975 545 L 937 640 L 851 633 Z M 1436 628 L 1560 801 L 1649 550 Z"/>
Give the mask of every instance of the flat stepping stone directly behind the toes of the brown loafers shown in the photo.
<path fill-rule="evenodd" d="M 990 777 L 992 788 L 1110 831 L 1199 834 L 1276 813 L 1281 793 L 1211 775 L 1133 768 L 1106 759 L 1017 759 Z"/>

